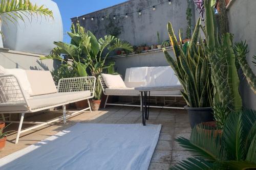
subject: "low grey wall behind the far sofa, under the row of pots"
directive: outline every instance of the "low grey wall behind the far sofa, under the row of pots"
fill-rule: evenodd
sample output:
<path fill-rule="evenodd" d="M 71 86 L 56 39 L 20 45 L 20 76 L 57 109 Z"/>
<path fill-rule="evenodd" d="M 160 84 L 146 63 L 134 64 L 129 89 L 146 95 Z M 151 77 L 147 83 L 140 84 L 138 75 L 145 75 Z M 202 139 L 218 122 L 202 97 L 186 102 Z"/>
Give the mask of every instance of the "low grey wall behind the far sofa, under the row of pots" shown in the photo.
<path fill-rule="evenodd" d="M 172 48 L 169 48 L 167 51 L 170 56 L 174 57 Z M 125 76 L 126 68 L 169 65 L 164 57 L 164 53 L 162 50 L 128 56 L 110 57 L 108 58 L 108 61 L 116 62 L 115 69 L 120 75 L 123 76 L 123 78 Z"/>

